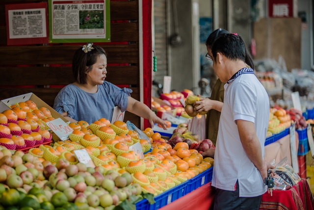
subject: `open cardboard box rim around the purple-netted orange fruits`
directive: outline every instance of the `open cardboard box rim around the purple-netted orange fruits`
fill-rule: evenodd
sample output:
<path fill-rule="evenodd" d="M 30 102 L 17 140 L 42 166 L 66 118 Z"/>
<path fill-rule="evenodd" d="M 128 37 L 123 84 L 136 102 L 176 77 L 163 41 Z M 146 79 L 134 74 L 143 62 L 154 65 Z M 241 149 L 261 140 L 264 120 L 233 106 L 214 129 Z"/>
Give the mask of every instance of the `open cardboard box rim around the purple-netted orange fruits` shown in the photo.
<path fill-rule="evenodd" d="M 7 98 L 0 101 L 0 112 L 3 112 L 4 110 L 10 109 L 10 106 L 19 102 L 25 102 L 27 100 L 32 100 L 36 103 L 38 108 L 46 107 L 51 112 L 51 115 L 54 119 L 61 118 L 64 122 L 68 122 L 69 120 L 65 119 L 63 116 L 61 116 L 58 112 L 56 112 L 51 106 L 46 104 L 42 99 L 40 99 L 37 95 L 35 95 L 32 92 L 18 95 L 12 98 Z"/>

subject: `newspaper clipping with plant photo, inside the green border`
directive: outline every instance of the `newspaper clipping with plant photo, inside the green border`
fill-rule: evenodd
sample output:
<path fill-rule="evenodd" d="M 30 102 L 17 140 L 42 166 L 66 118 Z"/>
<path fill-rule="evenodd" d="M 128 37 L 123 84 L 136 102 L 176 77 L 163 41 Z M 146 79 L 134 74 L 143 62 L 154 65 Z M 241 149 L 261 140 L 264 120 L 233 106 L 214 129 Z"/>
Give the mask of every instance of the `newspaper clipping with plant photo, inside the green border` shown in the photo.
<path fill-rule="evenodd" d="M 52 0 L 52 39 L 106 38 L 105 6 L 105 0 Z"/>

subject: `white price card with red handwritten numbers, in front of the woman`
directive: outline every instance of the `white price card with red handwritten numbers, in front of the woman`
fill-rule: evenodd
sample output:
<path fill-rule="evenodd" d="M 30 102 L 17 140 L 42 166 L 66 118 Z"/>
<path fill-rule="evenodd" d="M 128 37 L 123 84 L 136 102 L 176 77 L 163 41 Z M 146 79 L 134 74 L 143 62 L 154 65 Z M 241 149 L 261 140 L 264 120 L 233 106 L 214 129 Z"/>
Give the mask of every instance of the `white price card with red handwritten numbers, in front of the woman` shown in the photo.
<path fill-rule="evenodd" d="M 62 141 L 67 140 L 73 132 L 72 127 L 60 118 L 46 122 L 46 125 L 57 135 Z"/>

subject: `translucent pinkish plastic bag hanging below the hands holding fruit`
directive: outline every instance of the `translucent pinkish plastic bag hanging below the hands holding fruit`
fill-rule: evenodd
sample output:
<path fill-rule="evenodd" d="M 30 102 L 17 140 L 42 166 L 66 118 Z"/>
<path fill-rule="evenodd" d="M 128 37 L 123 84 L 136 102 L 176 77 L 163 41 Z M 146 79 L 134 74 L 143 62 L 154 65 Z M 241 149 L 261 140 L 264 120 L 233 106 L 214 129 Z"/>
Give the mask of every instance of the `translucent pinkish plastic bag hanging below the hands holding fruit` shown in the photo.
<path fill-rule="evenodd" d="M 206 116 L 202 115 L 201 118 L 194 117 L 188 124 L 188 131 L 194 137 L 194 140 L 199 142 L 205 139 L 206 129 Z"/>

